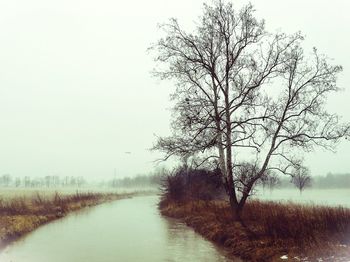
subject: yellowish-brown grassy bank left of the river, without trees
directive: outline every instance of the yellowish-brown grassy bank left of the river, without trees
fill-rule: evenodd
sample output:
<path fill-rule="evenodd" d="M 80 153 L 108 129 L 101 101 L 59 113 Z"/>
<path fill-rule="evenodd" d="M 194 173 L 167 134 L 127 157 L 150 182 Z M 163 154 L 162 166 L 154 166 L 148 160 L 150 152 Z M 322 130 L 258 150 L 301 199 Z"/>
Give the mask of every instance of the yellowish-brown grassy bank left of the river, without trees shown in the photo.
<path fill-rule="evenodd" d="M 32 194 L 0 198 L 0 248 L 42 224 L 64 217 L 72 211 L 132 194 L 75 193 L 70 195 Z"/>

